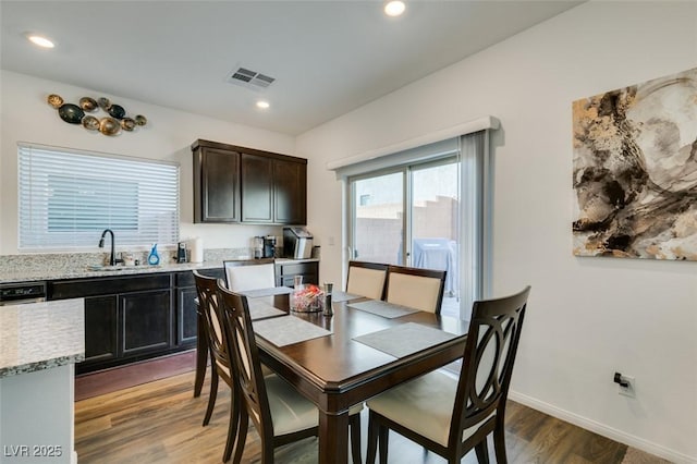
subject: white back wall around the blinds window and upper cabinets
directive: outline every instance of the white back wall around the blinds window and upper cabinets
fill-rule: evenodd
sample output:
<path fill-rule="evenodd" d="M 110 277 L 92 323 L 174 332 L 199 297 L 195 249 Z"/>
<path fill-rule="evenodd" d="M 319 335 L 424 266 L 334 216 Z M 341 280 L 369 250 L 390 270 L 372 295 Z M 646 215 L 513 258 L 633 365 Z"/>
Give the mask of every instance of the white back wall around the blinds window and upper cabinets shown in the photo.
<path fill-rule="evenodd" d="M 254 235 L 280 231 L 272 227 L 194 224 L 191 144 L 204 138 L 293 155 L 293 137 L 8 71 L 0 73 L 0 255 L 17 253 L 17 142 L 179 161 L 181 237 L 200 236 L 205 248 L 246 247 Z M 106 96 L 129 114 L 144 114 L 148 124 L 115 137 L 87 131 L 63 122 L 46 102 L 49 94 L 73 103 L 81 97 Z M 95 252 L 98 239 L 95 236 Z"/>

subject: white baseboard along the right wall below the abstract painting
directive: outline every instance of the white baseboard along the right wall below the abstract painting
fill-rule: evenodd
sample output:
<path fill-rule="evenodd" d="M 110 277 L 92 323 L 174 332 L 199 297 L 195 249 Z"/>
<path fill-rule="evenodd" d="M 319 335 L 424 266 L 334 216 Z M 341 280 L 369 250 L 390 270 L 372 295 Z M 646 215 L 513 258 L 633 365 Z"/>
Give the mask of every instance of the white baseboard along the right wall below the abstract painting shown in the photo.
<path fill-rule="evenodd" d="M 697 457 L 695 456 L 688 456 L 687 454 L 683 454 L 677 451 L 662 447 L 660 444 L 652 443 L 650 441 L 644 440 L 643 438 L 626 434 L 622 430 L 608 427 L 604 424 L 600 424 L 587 417 L 583 417 L 577 414 L 570 413 L 568 411 L 561 410 L 549 403 L 545 403 L 542 401 L 536 400 L 535 398 L 530 398 L 514 391 L 509 391 L 509 399 L 515 402 L 518 402 L 521 404 L 525 404 L 526 406 L 531 407 L 534 410 L 541 411 L 542 413 L 549 414 L 550 416 L 557 417 L 558 419 L 565 420 L 575 426 L 585 428 L 586 430 L 594 431 L 598 435 L 610 438 L 614 441 L 619 441 L 620 443 L 627 444 L 629 447 L 636 448 L 638 450 L 653 454 L 656 456 L 662 457 L 673 463 L 676 463 L 676 464 L 697 463 Z"/>

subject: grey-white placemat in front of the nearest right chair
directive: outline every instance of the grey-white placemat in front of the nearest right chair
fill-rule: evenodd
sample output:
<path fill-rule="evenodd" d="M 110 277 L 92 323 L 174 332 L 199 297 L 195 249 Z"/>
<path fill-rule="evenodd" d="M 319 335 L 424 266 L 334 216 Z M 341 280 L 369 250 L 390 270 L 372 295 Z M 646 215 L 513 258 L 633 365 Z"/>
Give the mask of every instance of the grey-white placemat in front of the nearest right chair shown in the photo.
<path fill-rule="evenodd" d="M 394 357 L 404 357 L 456 337 L 453 333 L 432 327 L 406 322 L 377 332 L 366 333 L 365 335 L 354 337 L 353 340 Z"/>

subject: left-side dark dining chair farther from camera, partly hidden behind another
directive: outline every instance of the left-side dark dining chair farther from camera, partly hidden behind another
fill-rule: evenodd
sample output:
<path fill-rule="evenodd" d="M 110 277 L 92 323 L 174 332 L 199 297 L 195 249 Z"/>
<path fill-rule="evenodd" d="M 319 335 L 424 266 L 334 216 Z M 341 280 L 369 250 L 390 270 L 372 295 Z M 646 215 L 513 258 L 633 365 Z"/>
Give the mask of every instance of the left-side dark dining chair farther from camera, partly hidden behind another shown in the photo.
<path fill-rule="evenodd" d="M 204 426 L 207 426 L 216 405 L 219 379 L 223 379 L 228 387 L 230 387 L 233 395 L 234 380 L 225 332 L 223 327 L 220 325 L 218 279 L 215 277 L 201 276 L 196 270 L 192 272 L 194 273 L 194 280 L 196 281 L 198 307 L 203 315 L 205 325 L 204 331 L 208 335 L 208 351 L 210 352 L 211 359 L 210 393 L 208 395 L 208 407 L 206 408 L 206 415 L 204 416 Z M 223 462 L 230 460 L 230 456 L 232 455 L 239 423 L 239 402 L 233 399 L 230 402 L 230 423 L 228 425 L 228 438 L 225 441 L 225 450 L 223 451 Z"/>

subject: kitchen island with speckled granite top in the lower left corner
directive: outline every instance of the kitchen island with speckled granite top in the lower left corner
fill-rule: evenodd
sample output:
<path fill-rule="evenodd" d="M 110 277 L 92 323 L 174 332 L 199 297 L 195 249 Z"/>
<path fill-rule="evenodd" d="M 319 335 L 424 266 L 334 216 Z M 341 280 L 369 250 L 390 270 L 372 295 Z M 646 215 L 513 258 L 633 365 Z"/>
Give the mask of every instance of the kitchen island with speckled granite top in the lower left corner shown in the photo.
<path fill-rule="evenodd" d="M 83 298 L 0 306 L 0 463 L 76 463 Z"/>

